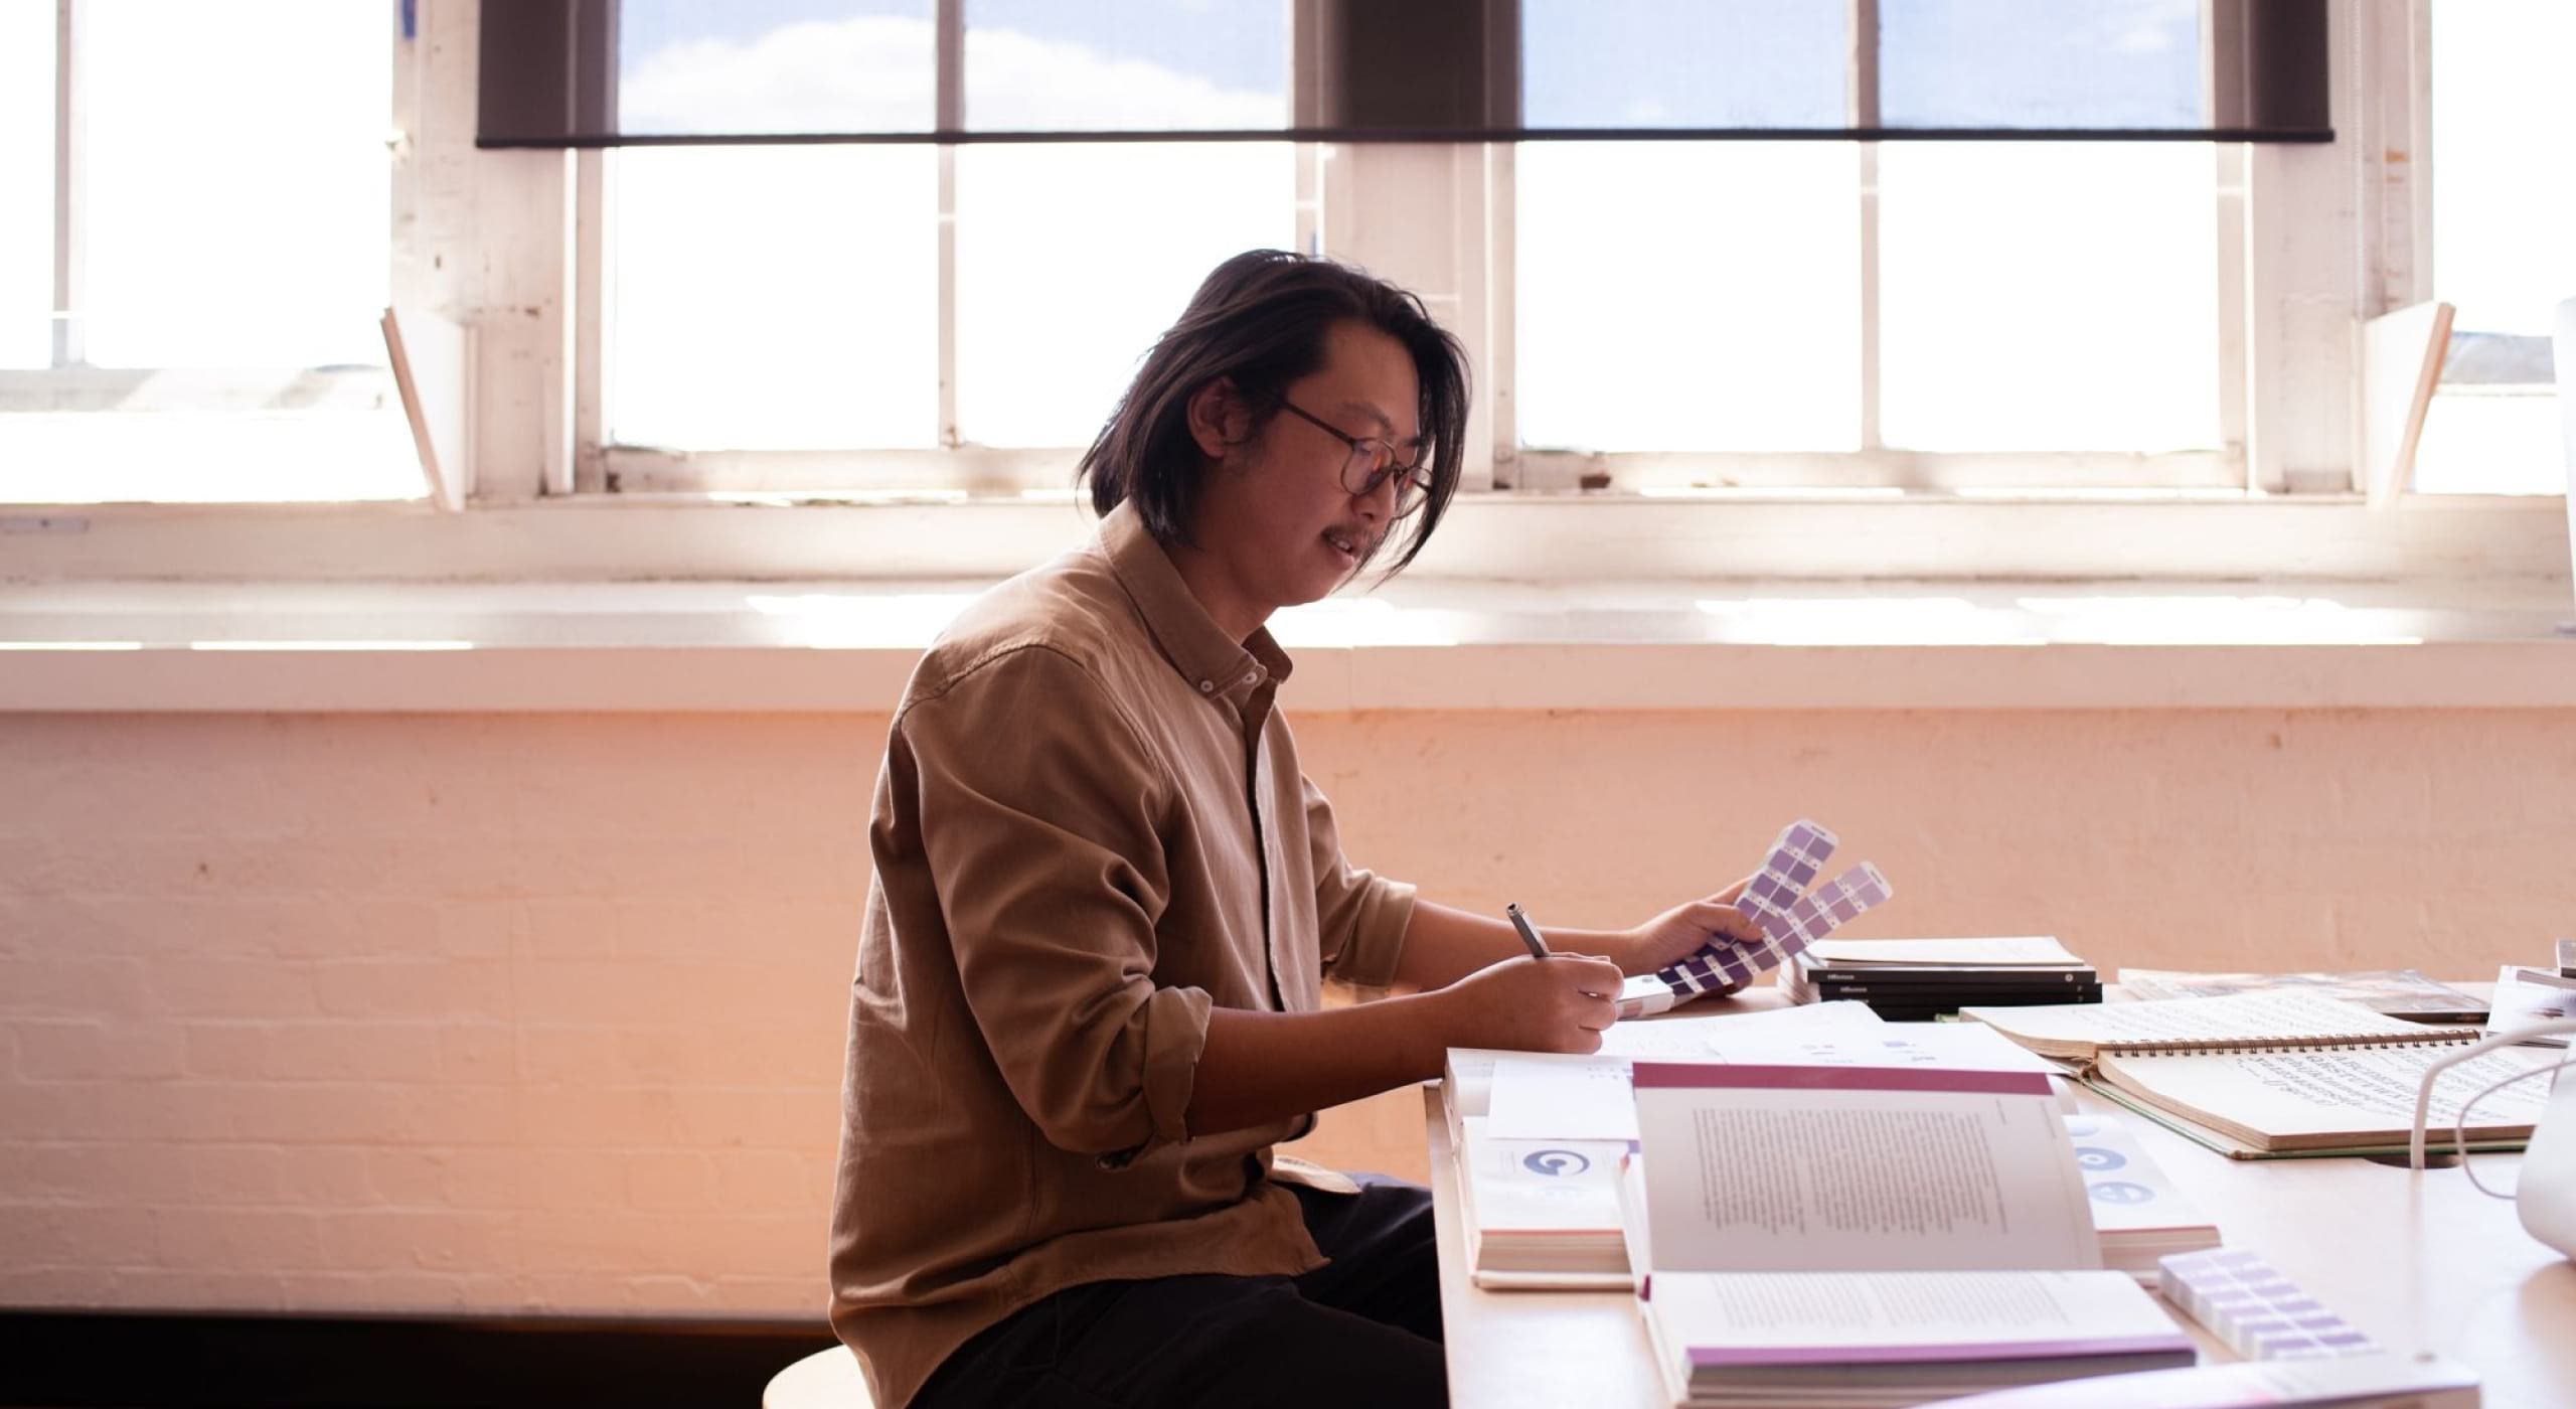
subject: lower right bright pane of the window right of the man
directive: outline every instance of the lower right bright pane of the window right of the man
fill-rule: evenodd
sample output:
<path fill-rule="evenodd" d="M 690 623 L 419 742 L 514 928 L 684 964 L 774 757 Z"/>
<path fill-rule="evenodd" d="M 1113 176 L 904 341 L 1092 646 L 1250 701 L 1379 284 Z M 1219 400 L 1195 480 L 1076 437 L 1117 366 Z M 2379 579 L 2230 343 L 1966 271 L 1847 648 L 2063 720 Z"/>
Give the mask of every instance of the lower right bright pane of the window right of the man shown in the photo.
<path fill-rule="evenodd" d="M 2215 201 L 2202 144 L 1883 144 L 1888 446 L 2215 448 Z"/>

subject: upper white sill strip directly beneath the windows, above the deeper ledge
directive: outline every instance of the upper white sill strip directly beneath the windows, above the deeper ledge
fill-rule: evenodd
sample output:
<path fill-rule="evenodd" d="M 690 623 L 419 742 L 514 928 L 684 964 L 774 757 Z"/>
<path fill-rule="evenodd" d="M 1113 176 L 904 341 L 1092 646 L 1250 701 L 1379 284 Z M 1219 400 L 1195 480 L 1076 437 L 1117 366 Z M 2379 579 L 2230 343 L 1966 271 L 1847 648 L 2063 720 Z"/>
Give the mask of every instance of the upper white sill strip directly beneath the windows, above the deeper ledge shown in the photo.
<path fill-rule="evenodd" d="M 1878 492 L 1461 495 L 1406 582 L 2491 582 L 2568 574 L 2561 497 L 2032 500 Z M 0 507 L 0 582 L 997 580 L 1090 533 L 1066 492 L 793 505 Z"/>

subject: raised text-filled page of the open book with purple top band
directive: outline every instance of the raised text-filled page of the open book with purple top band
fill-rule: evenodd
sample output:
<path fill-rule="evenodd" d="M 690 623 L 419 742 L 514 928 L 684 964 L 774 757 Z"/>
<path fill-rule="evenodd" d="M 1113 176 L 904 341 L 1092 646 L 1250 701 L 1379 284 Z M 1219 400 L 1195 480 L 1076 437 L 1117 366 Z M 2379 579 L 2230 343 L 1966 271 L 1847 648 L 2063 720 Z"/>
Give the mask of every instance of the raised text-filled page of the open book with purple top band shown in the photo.
<path fill-rule="evenodd" d="M 1636 1090 L 1654 1272 L 2099 1267 L 2048 1082 L 1656 1066 Z"/>

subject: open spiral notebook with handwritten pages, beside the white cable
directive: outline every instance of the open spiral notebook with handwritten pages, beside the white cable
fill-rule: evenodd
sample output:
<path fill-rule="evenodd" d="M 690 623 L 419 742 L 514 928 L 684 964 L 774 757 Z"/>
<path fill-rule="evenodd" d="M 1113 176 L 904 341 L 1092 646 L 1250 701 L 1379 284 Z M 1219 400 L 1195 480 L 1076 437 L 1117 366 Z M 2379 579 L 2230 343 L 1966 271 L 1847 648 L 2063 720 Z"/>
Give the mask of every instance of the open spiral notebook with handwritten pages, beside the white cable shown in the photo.
<path fill-rule="evenodd" d="M 2483 1035 L 2303 989 L 1968 1007 L 1963 1017 L 2079 1066 L 2089 1087 L 2233 1159 L 2398 1154 L 2424 1072 Z M 2527 1141 L 2548 1105 L 2548 1079 L 2499 1082 L 2558 1059 L 2506 1048 L 2445 1072 L 2429 1113 L 2434 1144 L 2450 1141 L 2463 1102 L 2473 1149 Z"/>

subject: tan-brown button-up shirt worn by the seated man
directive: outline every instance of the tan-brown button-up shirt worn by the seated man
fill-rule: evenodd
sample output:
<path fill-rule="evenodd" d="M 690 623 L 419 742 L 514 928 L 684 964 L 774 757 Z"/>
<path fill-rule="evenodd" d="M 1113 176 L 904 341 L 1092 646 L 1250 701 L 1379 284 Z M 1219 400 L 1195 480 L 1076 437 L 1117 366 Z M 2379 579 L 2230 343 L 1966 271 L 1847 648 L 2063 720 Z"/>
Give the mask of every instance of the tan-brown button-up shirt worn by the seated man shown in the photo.
<path fill-rule="evenodd" d="M 1386 984 L 1412 886 L 1355 871 L 1273 708 L 1133 507 L 979 598 L 912 672 L 868 842 L 832 1329 L 899 1409 L 1069 1285 L 1324 1262 L 1270 1146 L 1193 1133 L 1211 1007 Z"/>

